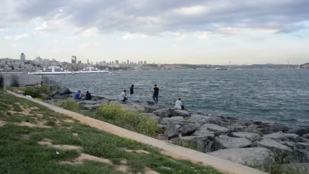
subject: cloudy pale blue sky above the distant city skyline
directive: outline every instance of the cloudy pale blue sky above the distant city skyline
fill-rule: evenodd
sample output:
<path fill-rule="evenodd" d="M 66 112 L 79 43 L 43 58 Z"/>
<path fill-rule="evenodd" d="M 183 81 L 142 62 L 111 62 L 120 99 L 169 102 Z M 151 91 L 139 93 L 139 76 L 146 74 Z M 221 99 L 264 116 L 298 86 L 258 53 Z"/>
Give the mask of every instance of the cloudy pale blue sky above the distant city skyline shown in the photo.
<path fill-rule="evenodd" d="M 0 58 L 309 62 L 308 0 L 0 0 Z"/>

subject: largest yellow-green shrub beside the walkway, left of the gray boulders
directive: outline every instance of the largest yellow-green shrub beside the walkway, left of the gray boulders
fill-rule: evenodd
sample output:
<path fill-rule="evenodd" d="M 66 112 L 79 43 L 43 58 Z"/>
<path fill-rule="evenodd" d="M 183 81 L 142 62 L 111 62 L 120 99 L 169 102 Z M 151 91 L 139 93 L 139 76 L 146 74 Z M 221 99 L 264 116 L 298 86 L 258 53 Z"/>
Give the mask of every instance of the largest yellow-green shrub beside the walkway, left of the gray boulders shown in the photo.
<path fill-rule="evenodd" d="M 161 131 L 156 120 L 115 104 L 103 104 L 92 117 L 148 136 L 157 136 Z"/>

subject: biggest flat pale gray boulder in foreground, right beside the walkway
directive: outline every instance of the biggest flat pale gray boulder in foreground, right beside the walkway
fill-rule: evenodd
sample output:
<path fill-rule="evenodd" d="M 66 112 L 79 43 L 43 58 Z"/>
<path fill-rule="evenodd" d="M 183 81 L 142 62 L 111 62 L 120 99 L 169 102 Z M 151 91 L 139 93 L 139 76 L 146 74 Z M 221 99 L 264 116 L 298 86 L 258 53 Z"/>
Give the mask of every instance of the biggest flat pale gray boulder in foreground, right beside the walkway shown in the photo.
<path fill-rule="evenodd" d="M 208 153 L 211 156 L 226 159 L 238 164 L 268 166 L 273 153 L 266 148 L 233 148 Z"/>

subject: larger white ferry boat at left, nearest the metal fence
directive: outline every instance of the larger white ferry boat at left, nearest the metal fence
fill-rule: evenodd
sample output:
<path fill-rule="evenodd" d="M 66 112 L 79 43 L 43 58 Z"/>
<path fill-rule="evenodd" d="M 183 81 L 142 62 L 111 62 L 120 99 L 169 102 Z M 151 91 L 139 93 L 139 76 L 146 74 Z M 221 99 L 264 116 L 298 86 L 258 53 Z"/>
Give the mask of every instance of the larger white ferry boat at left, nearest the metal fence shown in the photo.
<path fill-rule="evenodd" d="M 69 71 L 65 68 L 62 68 L 58 65 L 51 65 L 48 68 L 43 68 L 43 70 L 38 70 L 36 72 L 28 72 L 28 74 L 35 75 L 59 75 L 59 74 L 78 74 L 76 72 Z"/>

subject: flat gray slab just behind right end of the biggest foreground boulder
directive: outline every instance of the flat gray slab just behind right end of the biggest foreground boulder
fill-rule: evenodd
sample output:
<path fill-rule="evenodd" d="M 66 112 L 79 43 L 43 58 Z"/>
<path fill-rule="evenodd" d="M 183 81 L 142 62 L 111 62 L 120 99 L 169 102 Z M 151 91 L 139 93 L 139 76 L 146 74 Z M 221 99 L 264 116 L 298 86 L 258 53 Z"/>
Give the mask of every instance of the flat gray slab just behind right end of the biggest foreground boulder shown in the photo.
<path fill-rule="evenodd" d="M 292 149 L 284 146 L 283 144 L 272 140 L 272 139 L 262 139 L 260 141 L 254 141 L 254 145 L 257 147 L 264 147 L 273 152 L 283 151 L 283 152 L 292 152 Z"/>

